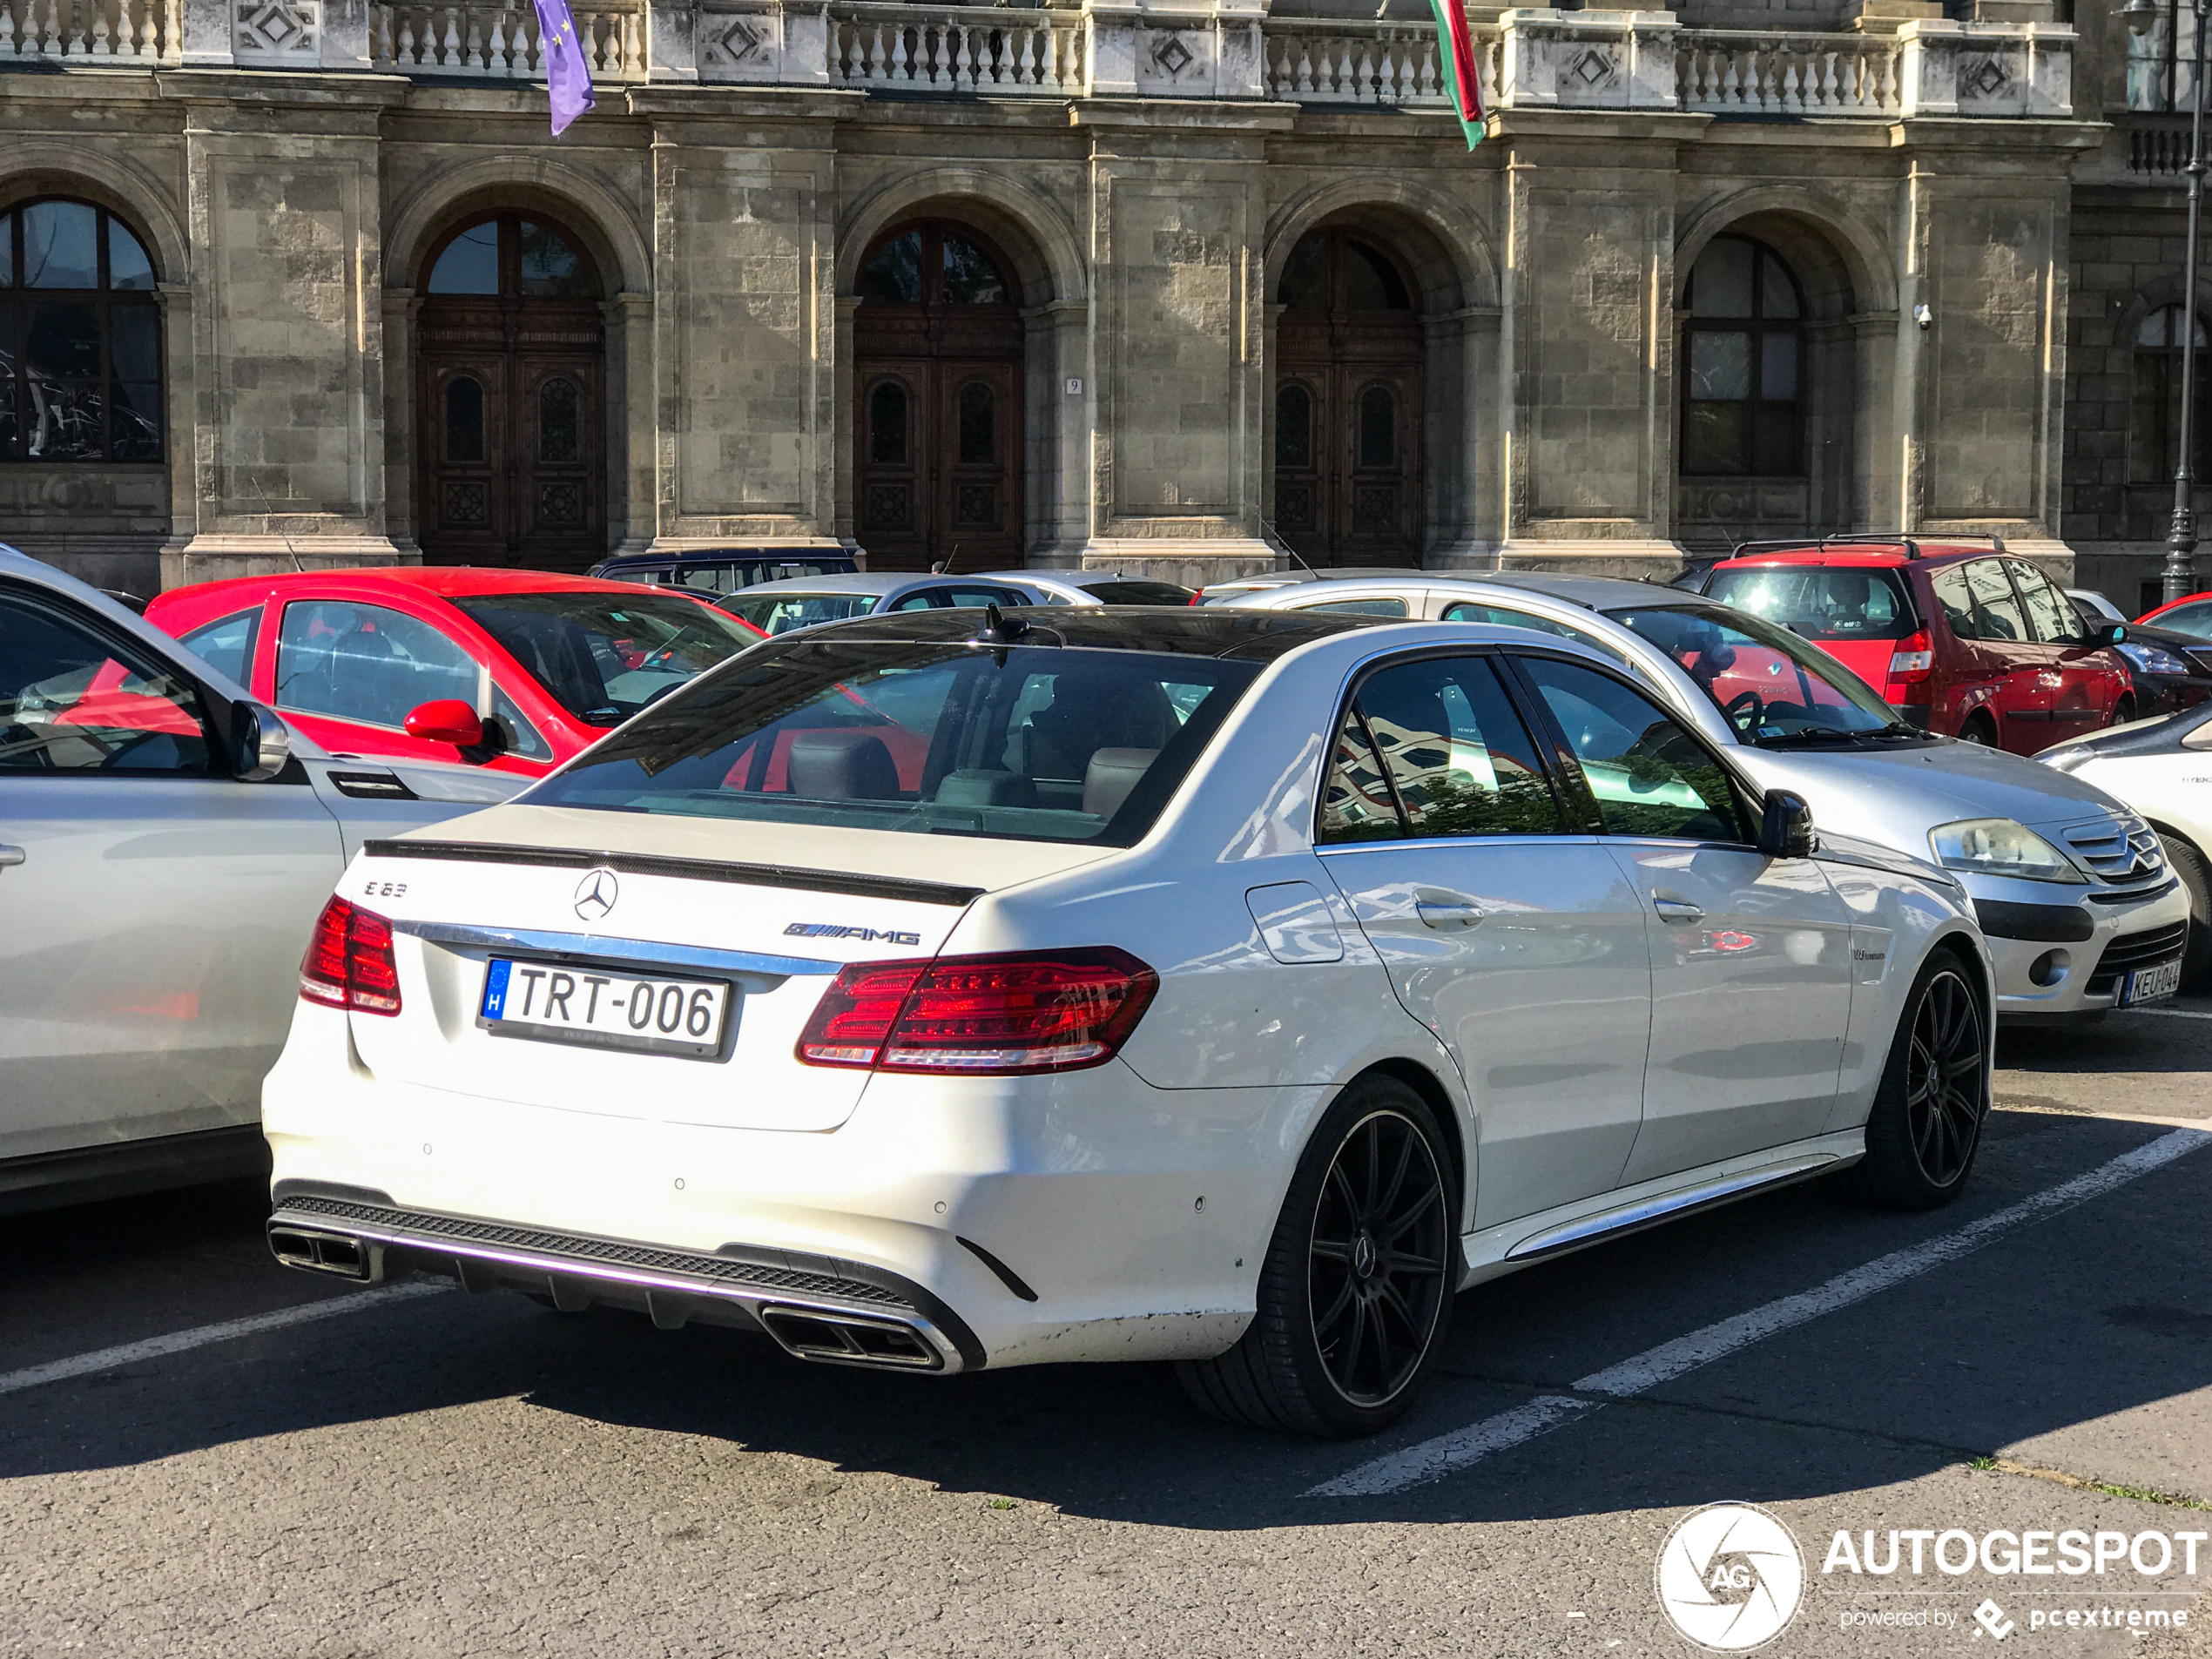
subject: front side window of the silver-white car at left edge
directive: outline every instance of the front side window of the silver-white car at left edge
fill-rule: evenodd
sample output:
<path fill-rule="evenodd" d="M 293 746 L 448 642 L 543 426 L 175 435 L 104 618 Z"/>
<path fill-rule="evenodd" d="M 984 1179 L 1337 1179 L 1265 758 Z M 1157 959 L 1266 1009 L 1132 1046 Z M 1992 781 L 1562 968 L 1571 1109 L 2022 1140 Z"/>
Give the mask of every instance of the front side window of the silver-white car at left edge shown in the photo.
<path fill-rule="evenodd" d="M 199 692 L 153 657 L 0 593 L 0 772 L 208 774 Z"/>

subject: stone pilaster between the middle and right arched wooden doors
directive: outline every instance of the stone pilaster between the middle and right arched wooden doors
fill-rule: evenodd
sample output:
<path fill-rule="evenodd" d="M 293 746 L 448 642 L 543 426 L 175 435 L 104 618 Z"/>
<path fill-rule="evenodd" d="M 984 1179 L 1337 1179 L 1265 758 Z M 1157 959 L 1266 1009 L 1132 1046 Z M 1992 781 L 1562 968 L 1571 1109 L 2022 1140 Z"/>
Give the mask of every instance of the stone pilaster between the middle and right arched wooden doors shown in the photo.
<path fill-rule="evenodd" d="M 1270 106 L 1093 100 L 1091 538 L 1084 564 L 1203 586 L 1261 540 L 1261 239 Z"/>

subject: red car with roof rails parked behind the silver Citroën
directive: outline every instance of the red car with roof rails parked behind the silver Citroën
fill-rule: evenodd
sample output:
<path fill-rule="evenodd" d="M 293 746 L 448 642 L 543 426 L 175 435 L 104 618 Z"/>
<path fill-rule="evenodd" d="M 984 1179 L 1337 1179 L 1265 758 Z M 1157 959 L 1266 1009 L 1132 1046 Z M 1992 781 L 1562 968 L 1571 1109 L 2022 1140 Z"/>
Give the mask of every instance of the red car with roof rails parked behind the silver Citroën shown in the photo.
<path fill-rule="evenodd" d="M 1989 546 L 1827 538 L 1736 549 L 1705 593 L 1818 641 L 1913 726 L 2015 754 L 2135 719 L 2124 628 Z"/>

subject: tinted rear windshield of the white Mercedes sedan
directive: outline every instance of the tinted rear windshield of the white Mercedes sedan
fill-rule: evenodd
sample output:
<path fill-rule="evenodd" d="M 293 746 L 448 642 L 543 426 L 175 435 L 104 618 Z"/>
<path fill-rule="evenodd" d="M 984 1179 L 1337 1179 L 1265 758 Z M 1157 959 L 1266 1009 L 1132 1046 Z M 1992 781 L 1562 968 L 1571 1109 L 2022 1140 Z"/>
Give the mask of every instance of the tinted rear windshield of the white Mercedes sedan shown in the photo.
<path fill-rule="evenodd" d="M 677 692 L 524 799 L 1126 847 L 1256 675 L 1146 650 L 794 637 Z"/>

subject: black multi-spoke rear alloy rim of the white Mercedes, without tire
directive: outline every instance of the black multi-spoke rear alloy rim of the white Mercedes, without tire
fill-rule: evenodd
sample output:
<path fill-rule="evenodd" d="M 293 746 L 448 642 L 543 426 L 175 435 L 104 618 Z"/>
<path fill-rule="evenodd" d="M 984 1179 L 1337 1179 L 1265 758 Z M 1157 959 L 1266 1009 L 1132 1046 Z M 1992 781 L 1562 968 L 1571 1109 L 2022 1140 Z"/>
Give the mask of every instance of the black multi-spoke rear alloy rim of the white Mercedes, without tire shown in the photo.
<path fill-rule="evenodd" d="M 1389 1405 L 1436 1329 L 1451 1267 L 1444 1175 L 1409 1117 L 1354 1126 L 1321 1183 L 1307 1245 L 1314 1347 L 1356 1407 Z"/>

